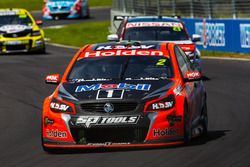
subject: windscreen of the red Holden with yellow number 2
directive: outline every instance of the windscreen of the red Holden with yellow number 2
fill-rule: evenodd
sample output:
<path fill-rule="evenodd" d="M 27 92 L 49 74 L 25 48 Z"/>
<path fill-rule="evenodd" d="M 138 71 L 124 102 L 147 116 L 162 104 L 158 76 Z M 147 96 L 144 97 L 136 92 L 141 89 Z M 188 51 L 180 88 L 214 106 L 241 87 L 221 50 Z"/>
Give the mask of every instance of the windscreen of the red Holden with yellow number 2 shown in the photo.
<path fill-rule="evenodd" d="M 173 77 L 171 61 L 162 56 L 83 58 L 68 76 L 78 80 L 155 80 Z"/>

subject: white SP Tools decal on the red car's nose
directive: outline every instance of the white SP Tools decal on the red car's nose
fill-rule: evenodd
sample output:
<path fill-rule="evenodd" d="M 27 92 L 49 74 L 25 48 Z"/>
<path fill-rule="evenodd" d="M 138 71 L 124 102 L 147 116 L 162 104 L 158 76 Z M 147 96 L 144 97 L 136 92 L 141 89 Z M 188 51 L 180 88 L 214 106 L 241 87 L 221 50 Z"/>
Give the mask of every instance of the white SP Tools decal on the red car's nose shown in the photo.
<path fill-rule="evenodd" d="M 137 124 L 139 118 L 140 116 L 80 116 L 75 125 L 89 128 L 92 125 Z"/>

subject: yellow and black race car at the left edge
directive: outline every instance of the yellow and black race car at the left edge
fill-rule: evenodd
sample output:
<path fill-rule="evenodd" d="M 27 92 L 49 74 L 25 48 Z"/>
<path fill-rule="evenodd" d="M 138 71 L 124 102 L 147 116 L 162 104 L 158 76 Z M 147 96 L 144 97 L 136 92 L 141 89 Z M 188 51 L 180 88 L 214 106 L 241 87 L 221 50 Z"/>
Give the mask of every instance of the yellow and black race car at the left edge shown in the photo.
<path fill-rule="evenodd" d="M 0 9 L 0 53 L 45 52 L 44 32 L 25 9 Z"/>

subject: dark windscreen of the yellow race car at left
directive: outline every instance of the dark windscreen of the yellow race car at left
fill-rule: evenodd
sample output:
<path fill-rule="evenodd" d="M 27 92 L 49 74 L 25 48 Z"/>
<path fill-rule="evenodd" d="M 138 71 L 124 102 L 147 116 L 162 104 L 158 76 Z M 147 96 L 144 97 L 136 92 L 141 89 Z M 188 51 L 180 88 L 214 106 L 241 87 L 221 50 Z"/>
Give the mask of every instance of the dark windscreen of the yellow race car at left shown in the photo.
<path fill-rule="evenodd" d="M 6 15 L 0 16 L 0 26 L 3 25 L 31 25 L 32 21 L 27 15 Z"/>

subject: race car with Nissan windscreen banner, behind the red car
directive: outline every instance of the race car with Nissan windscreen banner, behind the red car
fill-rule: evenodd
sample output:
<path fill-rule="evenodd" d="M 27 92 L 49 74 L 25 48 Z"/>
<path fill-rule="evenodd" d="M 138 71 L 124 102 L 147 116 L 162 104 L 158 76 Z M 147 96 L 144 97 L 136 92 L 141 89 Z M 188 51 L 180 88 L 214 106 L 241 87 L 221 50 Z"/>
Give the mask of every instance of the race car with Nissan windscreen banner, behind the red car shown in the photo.
<path fill-rule="evenodd" d="M 178 44 L 188 55 L 191 62 L 201 68 L 200 51 L 195 42 L 200 35 L 190 38 L 184 23 L 178 18 L 162 16 L 124 17 L 114 16 L 114 22 L 120 22 L 116 34 L 108 36 L 109 41 L 166 41 Z"/>

